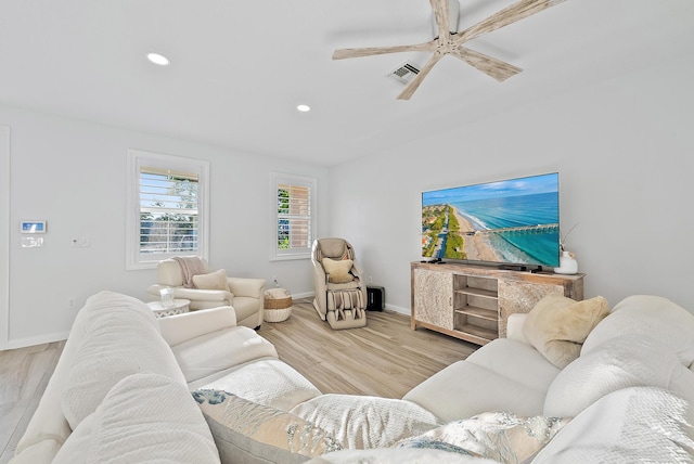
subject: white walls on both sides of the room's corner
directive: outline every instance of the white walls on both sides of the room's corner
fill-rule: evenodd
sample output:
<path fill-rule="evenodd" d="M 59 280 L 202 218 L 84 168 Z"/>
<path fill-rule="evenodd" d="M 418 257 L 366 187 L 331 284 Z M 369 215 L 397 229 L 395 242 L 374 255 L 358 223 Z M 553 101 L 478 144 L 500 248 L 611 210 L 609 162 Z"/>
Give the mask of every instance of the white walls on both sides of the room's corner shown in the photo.
<path fill-rule="evenodd" d="M 333 169 L 0 106 L 0 126 L 11 129 L 9 223 L 0 215 L 10 231 L 10 325 L 0 331 L 10 347 L 60 339 L 76 313 L 72 297 L 77 308 L 101 289 L 144 298 L 154 271 L 125 270 L 128 149 L 209 160 L 210 266 L 278 275 L 297 296 L 312 292 L 309 261 L 268 259 L 269 172 L 318 178 L 319 236 L 350 240 L 388 307 L 406 313 L 422 191 L 558 171 L 586 296 L 615 305 L 658 294 L 694 312 L 693 63 L 659 63 Z M 43 248 L 20 246 L 20 219 L 48 220 Z M 74 236 L 91 246 L 70 248 Z"/>

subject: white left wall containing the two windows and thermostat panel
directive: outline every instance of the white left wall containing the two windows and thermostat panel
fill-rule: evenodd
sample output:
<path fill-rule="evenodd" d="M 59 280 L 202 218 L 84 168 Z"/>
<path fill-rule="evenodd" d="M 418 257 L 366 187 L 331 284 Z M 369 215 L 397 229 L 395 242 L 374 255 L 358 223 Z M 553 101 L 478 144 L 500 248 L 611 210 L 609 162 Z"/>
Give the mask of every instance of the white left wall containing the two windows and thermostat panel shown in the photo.
<path fill-rule="evenodd" d="M 10 230 L 10 347 L 64 338 L 77 309 L 101 289 L 145 298 L 155 271 L 125 270 L 128 149 L 210 163 L 213 269 L 268 282 L 277 275 L 294 294 L 312 293 L 310 261 L 269 260 L 269 172 L 318 178 L 318 210 L 325 212 L 321 233 L 327 229 L 330 201 L 321 191 L 325 168 L 3 106 L 0 126 L 11 128 L 10 223 L 0 224 Z M 21 247 L 21 219 L 48 221 L 44 247 Z M 72 248 L 70 239 L 81 236 L 91 246 Z M 76 309 L 67 308 L 72 297 Z M 4 328 L 4 320 L 0 323 Z"/>

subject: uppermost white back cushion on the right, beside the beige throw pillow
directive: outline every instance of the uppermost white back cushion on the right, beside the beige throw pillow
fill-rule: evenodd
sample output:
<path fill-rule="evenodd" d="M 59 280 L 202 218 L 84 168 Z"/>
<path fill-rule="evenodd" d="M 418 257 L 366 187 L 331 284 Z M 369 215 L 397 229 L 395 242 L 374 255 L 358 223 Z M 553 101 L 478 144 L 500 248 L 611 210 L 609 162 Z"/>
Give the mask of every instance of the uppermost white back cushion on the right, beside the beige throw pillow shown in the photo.
<path fill-rule="evenodd" d="M 634 295 L 617 304 L 590 333 L 581 355 L 626 334 L 656 338 L 677 353 L 682 365 L 694 362 L 694 315 L 669 299 L 653 295 Z"/>

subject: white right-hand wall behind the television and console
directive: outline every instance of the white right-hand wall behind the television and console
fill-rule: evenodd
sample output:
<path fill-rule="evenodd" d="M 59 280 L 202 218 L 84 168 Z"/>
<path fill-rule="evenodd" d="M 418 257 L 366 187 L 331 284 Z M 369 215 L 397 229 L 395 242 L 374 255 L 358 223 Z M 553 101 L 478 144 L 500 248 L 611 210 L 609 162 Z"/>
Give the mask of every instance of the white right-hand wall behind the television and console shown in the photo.
<path fill-rule="evenodd" d="M 423 191 L 558 171 L 586 297 L 657 294 L 694 312 L 693 81 L 692 60 L 658 63 L 339 166 L 330 232 L 409 313 Z"/>

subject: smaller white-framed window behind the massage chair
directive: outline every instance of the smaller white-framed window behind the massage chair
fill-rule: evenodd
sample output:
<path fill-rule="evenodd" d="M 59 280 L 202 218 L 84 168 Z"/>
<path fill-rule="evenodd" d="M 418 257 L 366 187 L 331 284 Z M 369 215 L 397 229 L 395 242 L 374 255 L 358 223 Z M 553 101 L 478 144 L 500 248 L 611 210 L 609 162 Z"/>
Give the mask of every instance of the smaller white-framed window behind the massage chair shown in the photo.
<path fill-rule="evenodd" d="M 272 172 L 272 259 L 310 258 L 316 237 L 316 179 Z"/>

